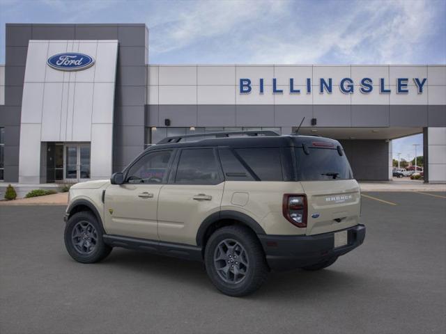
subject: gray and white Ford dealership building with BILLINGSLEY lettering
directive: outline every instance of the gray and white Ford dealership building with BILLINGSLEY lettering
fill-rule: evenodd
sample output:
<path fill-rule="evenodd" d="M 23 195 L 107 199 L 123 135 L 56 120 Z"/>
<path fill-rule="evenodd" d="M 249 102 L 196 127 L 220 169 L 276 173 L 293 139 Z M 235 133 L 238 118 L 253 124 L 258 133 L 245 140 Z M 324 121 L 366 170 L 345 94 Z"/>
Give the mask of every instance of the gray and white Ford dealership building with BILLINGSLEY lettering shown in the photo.
<path fill-rule="evenodd" d="M 145 24 L 6 24 L 0 182 L 108 178 L 166 136 L 328 136 L 357 180 L 392 179 L 392 140 L 422 133 L 446 182 L 446 65 L 153 65 Z M 268 159 L 268 157 L 265 157 Z"/>

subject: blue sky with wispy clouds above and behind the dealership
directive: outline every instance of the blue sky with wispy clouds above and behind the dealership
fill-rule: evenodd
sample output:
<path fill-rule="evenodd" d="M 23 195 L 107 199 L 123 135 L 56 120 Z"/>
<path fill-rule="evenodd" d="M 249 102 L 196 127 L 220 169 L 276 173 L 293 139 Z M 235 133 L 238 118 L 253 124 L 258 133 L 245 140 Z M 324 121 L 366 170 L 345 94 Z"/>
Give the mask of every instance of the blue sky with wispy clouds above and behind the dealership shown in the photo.
<path fill-rule="evenodd" d="M 0 63 L 6 23 L 145 23 L 152 64 L 445 64 L 445 17 L 446 0 L 0 0 Z"/>

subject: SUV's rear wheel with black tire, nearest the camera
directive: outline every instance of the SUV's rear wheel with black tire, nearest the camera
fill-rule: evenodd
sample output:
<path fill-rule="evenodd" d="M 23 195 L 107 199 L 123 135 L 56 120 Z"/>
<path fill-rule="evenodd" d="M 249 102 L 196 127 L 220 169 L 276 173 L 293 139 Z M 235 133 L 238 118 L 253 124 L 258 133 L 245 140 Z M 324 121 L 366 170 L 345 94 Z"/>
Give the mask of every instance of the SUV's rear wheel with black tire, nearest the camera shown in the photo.
<path fill-rule="evenodd" d="M 252 294 L 268 277 L 263 248 L 254 232 L 244 226 L 216 230 L 206 244 L 204 260 L 210 280 L 228 296 Z"/>

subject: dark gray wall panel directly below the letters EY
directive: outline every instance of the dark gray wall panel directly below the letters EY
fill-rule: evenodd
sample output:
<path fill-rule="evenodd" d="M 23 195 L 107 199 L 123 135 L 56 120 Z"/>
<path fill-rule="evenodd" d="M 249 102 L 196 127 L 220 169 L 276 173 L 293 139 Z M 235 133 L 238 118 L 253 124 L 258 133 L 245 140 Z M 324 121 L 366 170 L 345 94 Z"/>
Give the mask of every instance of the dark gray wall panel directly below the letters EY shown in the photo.
<path fill-rule="evenodd" d="M 426 127 L 426 105 L 391 105 L 390 127 Z"/>

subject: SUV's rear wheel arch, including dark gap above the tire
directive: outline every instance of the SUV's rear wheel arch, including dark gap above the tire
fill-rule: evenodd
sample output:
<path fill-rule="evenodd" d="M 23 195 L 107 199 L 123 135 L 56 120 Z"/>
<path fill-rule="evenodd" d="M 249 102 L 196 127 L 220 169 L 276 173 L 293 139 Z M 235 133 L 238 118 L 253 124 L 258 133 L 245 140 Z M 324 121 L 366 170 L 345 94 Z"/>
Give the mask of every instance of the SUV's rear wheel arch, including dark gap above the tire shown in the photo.
<path fill-rule="evenodd" d="M 253 218 L 242 212 L 224 210 L 210 214 L 200 225 L 197 231 L 197 246 L 206 246 L 206 241 L 217 228 L 226 225 L 244 225 L 255 234 L 266 234 L 265 230 Z"/>

